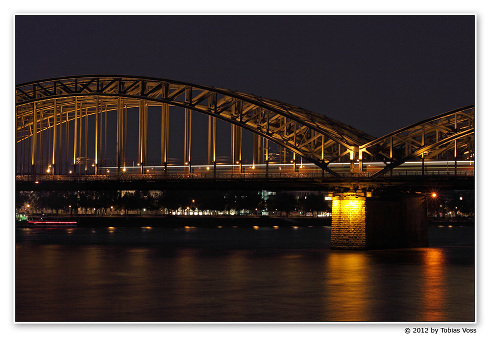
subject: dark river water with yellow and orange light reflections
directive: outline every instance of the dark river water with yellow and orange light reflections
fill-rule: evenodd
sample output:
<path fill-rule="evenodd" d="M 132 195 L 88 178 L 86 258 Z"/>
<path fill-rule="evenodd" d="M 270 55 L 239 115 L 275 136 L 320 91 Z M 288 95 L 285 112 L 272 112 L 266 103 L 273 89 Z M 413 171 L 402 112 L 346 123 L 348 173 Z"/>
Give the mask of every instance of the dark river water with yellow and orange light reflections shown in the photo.
<path fill-rule="evenodd" d="M 474 227 L 330 250 L 330 227 L 16 228 L 17 322 L 473 322 Z"/>

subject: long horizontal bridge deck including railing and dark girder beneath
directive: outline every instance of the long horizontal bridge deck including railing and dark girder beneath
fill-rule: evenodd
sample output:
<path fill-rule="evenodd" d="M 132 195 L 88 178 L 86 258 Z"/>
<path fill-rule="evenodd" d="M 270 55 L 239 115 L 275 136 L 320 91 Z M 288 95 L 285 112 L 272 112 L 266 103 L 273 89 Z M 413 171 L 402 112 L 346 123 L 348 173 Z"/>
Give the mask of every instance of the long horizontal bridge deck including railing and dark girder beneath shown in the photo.
<path fill-rule="evenodd" d="M 191 173 L 131 175 L 16 176 L 16 189 L 37 190 L 335 190 L 353 185 L 364 188 L 474 189 L 474 171 L 342 173 Z"/>

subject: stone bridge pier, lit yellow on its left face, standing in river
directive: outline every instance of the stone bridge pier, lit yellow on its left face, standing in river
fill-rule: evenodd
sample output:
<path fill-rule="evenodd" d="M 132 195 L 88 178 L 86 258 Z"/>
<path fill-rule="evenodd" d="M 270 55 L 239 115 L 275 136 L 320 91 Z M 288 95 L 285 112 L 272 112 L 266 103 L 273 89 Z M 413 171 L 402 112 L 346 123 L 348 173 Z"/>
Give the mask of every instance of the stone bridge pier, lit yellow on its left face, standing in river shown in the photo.
<path fill-rule="evenodd" d="M 344 193 L 332 200 L 331 249 L 427 247 L 424 195 L 366 197 Z"/>

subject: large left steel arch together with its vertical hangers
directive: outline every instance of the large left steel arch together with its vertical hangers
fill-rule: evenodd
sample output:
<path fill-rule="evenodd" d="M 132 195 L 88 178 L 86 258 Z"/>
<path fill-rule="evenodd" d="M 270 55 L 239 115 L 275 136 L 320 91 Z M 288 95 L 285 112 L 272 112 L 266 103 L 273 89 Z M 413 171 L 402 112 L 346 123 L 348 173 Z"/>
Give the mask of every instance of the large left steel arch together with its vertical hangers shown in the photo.
<path fill-rule="evenodd" d="M 16 138 L 17 144 L 30 139 L 29 164 L 35 167 L 39 156 L 38 134 L 49 130 L 49 161 L 54 169 L 60 158 L 62 141 L 70 142 L 68 133 L 60 139 L 62 125 L 74 123 L 73 164 L 89 162 L 87 156 L 77 152 L 82 144 L 77 133 L 85 132 L 81 123 L 87 125 L 88 116 L 95 115 L 95 158 L 99 162 L 101 143 L 102 112 L 116 112 L 117 165 L 123 165 L 126 145 L 123 135 L 128 127 L 127 109 L 139 109 L 138 157 L 142 164 L 147 156 L 147 113 L 149 106 L 162 109 L 162 164 L 168 160 L 169 107 L 185 109 L 185 157 L 190 165 L 191 111 L 209 117 L 209 147 L 214 149 L 211 161 L 216 164 L 216 119 L 249 130 L 263 138 L 265 161 L 268 162 L 268 144 L 273 142 L 290 150 L 295 156 L 303 157 L 333 175 L 328 164 L 347 156 L 353 167 L 356 153 L 362 147 L 366 153 L 376 143 L 374 137 L 336 120 L 268 98 L 232 92 L 225 89 L 206 87 L 191 83 L 150 77 L 125 75 L 87 75 L 51 78 L 16 86 Z M 107 116 L 107 115 L 105 115 Z M 458 120 L 461 122 L 461 120 Z M 72 123 L 72 124 L 73 124 Z M 107 124 L 106 124 L 107 126 Z M 131 126 L 130 126 L 131 127 Z M 58 131 L 57 131 L 58 130 Z M 100 132 L 99 132 L 100 131 Z M 241 131 L 240 131 L 241 132 Z M 236 131 L 237 135 L 241 135 Z M 36 137 L 33 137 L 36 135 Z M 78 136 L 80 136 L 78 134 Z M 72 137 L 72 136 L 70 136 Z M 98 138 L 99 137 L 99 138 Z M 42 138 L 41 138 L 42 140 Z M 85 136 L 86 143 L 86 136 Z M 265 143 L 265 144 L 264 144 Z M 233 144 L 232 144 L 233 146 Z M 85 149 L 87 145 L 85 144 Z M 66 147 L 68 152 L 68 147 Z M 85 150 L 86 151 L 86 150 Z M 71 154 L 70 154 L 71 155 Z M 295 159 L 296 160 L 296 159 Z"/>

